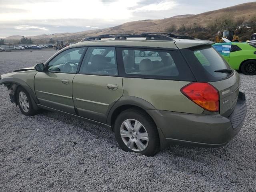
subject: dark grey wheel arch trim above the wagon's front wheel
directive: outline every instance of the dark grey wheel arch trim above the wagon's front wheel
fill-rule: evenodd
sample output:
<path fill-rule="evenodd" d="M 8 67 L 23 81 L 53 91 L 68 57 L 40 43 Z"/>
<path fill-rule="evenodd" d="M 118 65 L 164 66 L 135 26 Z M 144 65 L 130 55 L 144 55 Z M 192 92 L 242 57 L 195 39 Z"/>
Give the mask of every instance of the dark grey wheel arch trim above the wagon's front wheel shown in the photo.
<path fill-rule="evenodd" d="M 0 85 L 2 85 L 2 84 L 17 84 L 17 85 L 22 86 L 30 95 L 34 109 L 39 109 L 38 106 L 36 105 L 38 103 L 36 94 L 34 93 L 32 88 L 25 81 L 18 79 L 18 78 L 14 78 L 14 77 L 6 77 L 6 78 L 3 78 L 0 80 Z M 17 86 L 16 86 L 16 88 L 17 88 Z M 12 92 L 14 93 L 15 90 L 12 90 Z M 12 93 L 10 93 L 10 94 L 12 94 Z"/>

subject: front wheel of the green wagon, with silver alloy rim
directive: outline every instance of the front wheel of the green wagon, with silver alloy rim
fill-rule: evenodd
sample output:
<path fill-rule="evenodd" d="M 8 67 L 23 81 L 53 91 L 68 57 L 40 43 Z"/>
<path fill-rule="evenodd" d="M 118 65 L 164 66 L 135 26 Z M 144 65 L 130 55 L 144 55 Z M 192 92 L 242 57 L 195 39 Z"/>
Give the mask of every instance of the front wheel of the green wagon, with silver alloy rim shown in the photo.
<path fill-rule="evenodd" d="M 33 108 L 30 95 L 21 86 L 16 90 L 16 100 L 22 114 L 26 116 L 34 116 L 38 113 L 38 111 Z"/>

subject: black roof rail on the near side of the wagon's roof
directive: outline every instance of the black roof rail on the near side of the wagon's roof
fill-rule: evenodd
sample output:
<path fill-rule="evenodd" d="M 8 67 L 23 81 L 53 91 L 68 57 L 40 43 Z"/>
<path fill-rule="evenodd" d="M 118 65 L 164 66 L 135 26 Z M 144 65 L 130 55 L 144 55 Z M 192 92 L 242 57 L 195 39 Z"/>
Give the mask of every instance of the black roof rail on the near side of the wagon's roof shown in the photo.
<path fill-rule="evenodd" d="M 162 41 L 172 41 L 173 39 L 170 37 L 170 35 L 166 34 L 148 34 L 148 33 L 142 33 L 142 34 L 102 34 L 99 36 L 94 37 L 86 37 L 83 41 L 94 41 L 94 40 L 101 40 L 102 38 L 115 38 L 115 40 L 126 40 L 127 38 L 140 38 L 140 37 L 146 37 L 146 40 L 162 40 Z"/>

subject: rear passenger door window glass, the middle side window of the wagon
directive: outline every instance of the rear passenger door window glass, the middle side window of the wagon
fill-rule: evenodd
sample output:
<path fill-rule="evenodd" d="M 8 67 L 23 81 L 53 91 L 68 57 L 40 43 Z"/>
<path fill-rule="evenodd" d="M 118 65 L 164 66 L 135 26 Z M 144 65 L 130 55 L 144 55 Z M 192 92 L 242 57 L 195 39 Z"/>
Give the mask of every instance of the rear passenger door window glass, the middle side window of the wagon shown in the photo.
<path fill-rule="evenodd" d="M 82 74 L 118 75 L 114 47 L 89 47 L 80 68 Z"/>

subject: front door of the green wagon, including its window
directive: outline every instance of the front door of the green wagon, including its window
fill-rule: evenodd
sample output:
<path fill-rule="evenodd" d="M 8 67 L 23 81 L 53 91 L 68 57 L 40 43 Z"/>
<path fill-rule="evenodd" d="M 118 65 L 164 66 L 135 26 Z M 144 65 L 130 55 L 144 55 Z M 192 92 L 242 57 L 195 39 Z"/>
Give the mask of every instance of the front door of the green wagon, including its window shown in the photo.
<path fill-rule="evenodd" d="M 70 48 L 55 56 L 34 79 L 36 96 L 43 106 L 76 114 L 72 82 L 85 48 Z"/>

